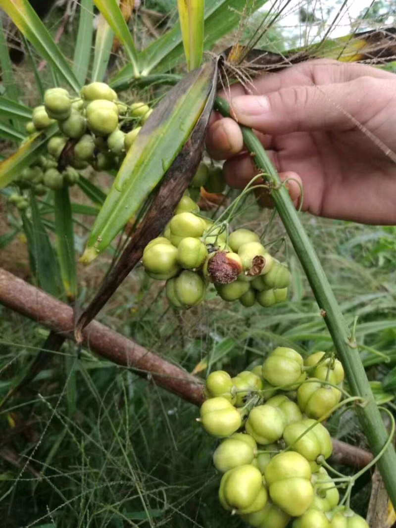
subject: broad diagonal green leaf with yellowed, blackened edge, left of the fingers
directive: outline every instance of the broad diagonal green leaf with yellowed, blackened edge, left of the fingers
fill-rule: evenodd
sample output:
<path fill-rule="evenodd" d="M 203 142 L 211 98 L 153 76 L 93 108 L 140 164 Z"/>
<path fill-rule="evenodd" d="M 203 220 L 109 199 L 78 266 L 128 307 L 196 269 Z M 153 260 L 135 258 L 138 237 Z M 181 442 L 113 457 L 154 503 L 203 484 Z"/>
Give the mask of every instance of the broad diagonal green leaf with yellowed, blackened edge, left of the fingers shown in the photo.
<path fill-rule="evenodd" d="M 216 71 L 213 61 L 188 74 L 146 121 L 93 225 L 81 258 L 84 263 L 106 249 L 161 181 L 199 119 Z"/>

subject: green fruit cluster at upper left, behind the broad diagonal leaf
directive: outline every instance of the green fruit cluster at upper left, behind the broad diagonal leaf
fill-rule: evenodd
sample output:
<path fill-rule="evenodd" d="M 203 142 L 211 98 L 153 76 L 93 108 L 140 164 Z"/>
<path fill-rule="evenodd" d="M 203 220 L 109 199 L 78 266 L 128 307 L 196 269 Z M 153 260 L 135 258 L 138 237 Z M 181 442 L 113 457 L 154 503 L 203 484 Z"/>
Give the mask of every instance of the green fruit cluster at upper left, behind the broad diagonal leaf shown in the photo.
<path fill-rule="evenodd" d="M 127 106 L 118 101 L 117 93 L 103 82 L 87 84 L 80 95 L 72 98 L 63 88 L 51 88 L 44 93 L 44 104 L 34 108 L 27 133 L 57 121 L 61 134 L 51 137 L 46 154 L 15 181 L 22 189 L 41 195 L 48 188 L 73 185 L 77 169 L 89 164 L 97 171 L 118 169 L 142 126 L 130 128 L 144 124 L 152 112 L 142 102 Z"/>

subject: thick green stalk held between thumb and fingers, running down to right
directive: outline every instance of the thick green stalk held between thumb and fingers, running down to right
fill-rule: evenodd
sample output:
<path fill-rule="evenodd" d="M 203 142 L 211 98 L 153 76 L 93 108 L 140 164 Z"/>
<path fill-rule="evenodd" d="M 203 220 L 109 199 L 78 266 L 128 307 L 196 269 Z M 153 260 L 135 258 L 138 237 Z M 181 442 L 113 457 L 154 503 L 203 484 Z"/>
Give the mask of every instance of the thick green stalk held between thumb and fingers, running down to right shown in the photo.
<path fill-rule="evenodd" d="M 229 116 L 229 105 L 223 99 L 216 98 L 214 108 L 223 116 Z M 324 310 L 323 317 L 343 364 L 350 392 L 366 401 L 364 406 L 357 405 L 356 411 L 373 455 L 376 456 L 384 447 L 388 432 L 376 406 L 356 343 L 351 341 L 351 332 L 285 185 L 282 185 L 274 165 L 253 131 L 244 126 L 241 126 L 241 130 L 244 145 L 249 152 L 254 153 L 254 163 L 268 174 L 266 180 L 274 186 L 271 197 L 304 267 L 319 308 Z M 393 506 L 396 507 L 396 452 L 392 444 L 381 456 L 378 467 Z"/>

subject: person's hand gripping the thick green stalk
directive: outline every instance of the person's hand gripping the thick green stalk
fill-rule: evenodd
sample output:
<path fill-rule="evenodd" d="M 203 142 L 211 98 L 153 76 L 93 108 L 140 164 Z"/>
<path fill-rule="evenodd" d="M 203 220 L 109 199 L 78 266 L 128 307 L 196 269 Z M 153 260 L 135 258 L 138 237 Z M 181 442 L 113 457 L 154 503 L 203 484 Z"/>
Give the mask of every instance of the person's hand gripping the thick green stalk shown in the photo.
<path fill-rule="evenodd" d="M 256 131 L 291 199 L 314 215 L 396 224 L 396 75 L 326 59 L 265 74 L 220 93 L 239 124 Z M 206 148 L 225 159 L 231 187 L 258 174 L 231 118 L 213 113 Z M 299 182 L 299 183 L 298 183 Z M 271 199 L 261 193 L 261 203 Z"/>

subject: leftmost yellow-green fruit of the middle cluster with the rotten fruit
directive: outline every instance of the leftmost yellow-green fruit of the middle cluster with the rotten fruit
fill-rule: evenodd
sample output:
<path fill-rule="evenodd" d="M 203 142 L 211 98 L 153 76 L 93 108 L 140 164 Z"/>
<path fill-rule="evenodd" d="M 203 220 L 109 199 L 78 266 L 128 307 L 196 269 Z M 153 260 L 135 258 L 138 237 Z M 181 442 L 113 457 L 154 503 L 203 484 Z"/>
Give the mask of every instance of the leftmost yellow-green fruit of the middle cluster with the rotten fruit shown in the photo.
<path fill-rule="evenodd" d="M 143 254 L 143 266 L 150 277 L 170 279 L 180 269 L 177 264 L 177 249 L 171 244 L 153 244 Z"/>

